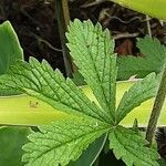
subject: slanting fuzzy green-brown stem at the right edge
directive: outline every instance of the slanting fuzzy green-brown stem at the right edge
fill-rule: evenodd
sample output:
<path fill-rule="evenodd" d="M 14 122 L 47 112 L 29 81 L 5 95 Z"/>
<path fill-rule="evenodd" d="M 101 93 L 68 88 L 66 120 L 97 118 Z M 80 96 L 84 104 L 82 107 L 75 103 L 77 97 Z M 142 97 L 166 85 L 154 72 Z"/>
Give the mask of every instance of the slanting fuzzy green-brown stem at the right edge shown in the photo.
<path fill-rule="evenodd" d="M 164 105 L 165 96 L 166 96 L 166 63 L 164 65 L 159 89 L 155 98 L 155 103 L 147 126 L 146 139 L 149 142 L 149 146 L 152 145 L 153 142 L 154 132 L 156 129 L 158 117 L 160 115 L 160 111 Z"/>

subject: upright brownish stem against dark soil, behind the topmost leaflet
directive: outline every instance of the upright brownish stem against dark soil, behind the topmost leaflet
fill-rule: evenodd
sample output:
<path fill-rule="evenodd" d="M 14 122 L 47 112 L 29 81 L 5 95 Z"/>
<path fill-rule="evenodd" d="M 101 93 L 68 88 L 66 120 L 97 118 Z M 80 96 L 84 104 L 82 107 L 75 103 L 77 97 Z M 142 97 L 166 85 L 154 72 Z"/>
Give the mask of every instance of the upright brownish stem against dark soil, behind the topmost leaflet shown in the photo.
<path fill-rule="evenodd" d="M 66 0 L 55 0 L 55 15 L 58 18 L 65 73 L 68 77 L 72 77 L 73 72 L 72 60 L 65 44 L 66 43 L 65 32 L 68 30 L 68 24 L 70 22 L 70 12 Z"/>

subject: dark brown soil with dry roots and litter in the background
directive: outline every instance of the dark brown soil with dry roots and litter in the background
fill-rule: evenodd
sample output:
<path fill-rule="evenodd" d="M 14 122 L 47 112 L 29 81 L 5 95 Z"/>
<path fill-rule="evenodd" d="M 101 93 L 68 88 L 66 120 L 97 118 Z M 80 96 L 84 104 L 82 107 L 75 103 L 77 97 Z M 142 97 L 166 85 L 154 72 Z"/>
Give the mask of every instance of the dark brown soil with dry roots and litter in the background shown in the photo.
<path fill-rule="evenodd" d="M 115 51 L 121 55 L 139 55 L 136 38 L 147 34 L 144 14 L 122 8 L 112 2 L 95 0 L 69 0 L 71 20 L 100 21 L 116 39 Z M 64 72 L 62 49 L 53 0 L 1 0 L 0 22 L 10 20 L 24 50 L 25 60 L 45 59 Z M 149 20 L 152 34 L 164 42 L 166 29 L 157 19 Z"/>

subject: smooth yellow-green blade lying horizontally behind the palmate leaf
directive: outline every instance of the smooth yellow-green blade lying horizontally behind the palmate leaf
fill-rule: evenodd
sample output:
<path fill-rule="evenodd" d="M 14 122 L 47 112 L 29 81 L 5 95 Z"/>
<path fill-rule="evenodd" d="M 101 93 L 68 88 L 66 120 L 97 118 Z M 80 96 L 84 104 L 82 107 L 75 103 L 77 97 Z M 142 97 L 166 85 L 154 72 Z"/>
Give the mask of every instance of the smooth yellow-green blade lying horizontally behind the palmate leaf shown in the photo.
<path fill-rule="evenodd" d="M 123 94 L 131 86 L 134 81 L 117 82 L 116 102 L 120 103 Z M 82 91 L 87 95 L 91 101 L 95 100 L 92 90 L 89 86 L 82 86 Z M 19 103 L 19 104 L 18 104 Z M 151 114 L 151 108 L 154 103 L 154 98 L 144 102 L 142 105 L 133 110 L 122 122 L 121 125 L 132 127 L 135 118 L 139 122 L 139 127 L 145 127 Z M 160 114 L 158 122 L 159 126 L 166 125 L 166 102 L 164 110 Z M 25 125 L 25 126 L 39 126 L 50 124 L 55 120 L 64 120 L 70 115 L 63 112 L 54 110 L 49 104 L 39 101 L 28 95 L 15 96 L 1 96 L 0 97 L 0 124 L 2 125 Z"/>

